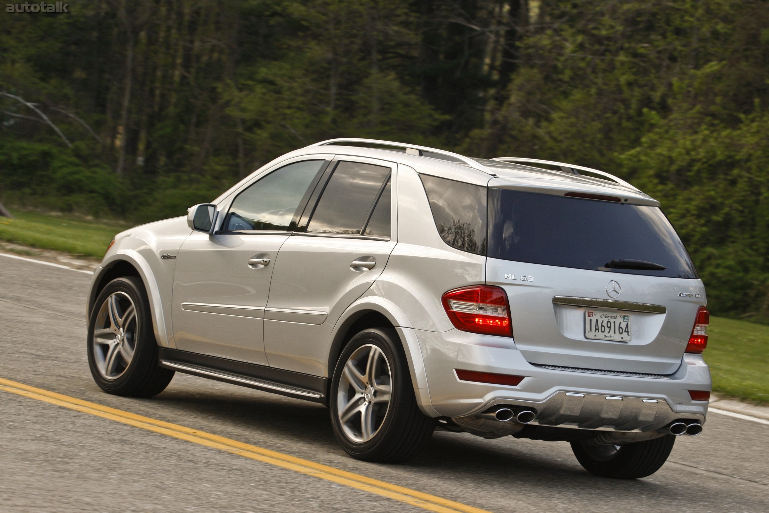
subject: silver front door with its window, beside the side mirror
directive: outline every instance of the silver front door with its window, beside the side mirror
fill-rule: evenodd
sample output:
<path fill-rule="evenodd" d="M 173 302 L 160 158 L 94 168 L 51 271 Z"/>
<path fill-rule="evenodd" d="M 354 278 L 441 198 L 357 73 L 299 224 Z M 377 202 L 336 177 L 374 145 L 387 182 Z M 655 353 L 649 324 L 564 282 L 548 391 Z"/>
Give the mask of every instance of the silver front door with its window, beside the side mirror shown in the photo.
<path fill-rule="evenodd" d="M 173 291 L 176 348 L 267 365 L 264 314 L 275 258 L 326 162 L 275 169 L 240 192 L 215 235 L 181 245 Z"/>

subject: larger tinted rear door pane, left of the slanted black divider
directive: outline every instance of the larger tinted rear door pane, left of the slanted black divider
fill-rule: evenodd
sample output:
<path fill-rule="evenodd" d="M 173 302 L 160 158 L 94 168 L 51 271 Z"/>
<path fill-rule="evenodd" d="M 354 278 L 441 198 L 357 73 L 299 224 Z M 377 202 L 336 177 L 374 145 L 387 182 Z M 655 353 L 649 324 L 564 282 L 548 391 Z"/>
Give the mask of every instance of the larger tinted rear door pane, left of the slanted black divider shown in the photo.
<path fill-rule="evenodd" d="M 359 234 L 390 168 L 339 162 L 307 227 L 308 232 Z"/>

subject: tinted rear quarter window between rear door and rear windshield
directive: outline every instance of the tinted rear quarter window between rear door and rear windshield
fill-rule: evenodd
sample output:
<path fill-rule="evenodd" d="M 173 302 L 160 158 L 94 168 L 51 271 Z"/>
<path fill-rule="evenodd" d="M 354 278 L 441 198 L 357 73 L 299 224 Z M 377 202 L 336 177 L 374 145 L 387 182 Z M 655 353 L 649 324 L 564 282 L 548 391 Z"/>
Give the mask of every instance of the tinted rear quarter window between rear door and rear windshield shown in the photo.
<path fill-rule="evenodd" d="M 480 185 L 419 175 L 444 242 L 465 252 L 486 252 L 486 195 Z"/>

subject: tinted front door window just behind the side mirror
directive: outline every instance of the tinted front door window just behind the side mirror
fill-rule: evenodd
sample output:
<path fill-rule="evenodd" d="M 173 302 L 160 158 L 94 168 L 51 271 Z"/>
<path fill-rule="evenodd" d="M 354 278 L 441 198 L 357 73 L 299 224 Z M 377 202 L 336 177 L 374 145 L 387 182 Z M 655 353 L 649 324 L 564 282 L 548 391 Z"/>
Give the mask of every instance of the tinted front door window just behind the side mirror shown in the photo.
<path fill-rule="evenodd" d="M 223 229 L 288 230 L 301 198 L 323 162 L 295 162 L 259 179 L 232 202 Z"/>

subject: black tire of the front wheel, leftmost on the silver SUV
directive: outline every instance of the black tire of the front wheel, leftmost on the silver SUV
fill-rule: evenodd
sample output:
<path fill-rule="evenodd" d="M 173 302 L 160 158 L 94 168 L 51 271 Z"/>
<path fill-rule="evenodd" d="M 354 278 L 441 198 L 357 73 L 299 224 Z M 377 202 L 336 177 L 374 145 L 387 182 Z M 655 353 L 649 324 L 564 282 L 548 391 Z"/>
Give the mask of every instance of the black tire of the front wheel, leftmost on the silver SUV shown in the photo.
<path fill-rule="evenodd" d="M 109 298 L 117 298 L 115 315 L 122 317 L 125 322 L 125 331 L 117 330 L 120 336 L 112 335 L 110 331 L 116 331 L 122 322 L 115 322 L 113 328 L 110 316 Z M 130 301 L 129 301 L 130 300 Z M 135 315 L 131 317 L 131 303 Z M 122 306 L 121 306 L 122 305 Z M 105 308 L 107 309 L 105 311 Z M 105 328 L 109 324 L 110 327 Z M 105 333 L 95 342 L 94 334 Z M 113 350 L 118 355 L 108 358 L 112 353 L 110 338 L 120 341 L 115 344 L 118 347 L 125 345 L 128 353 L 132 346 L 131 358 L 125 365 L 126 358 L 123 350 Z M 102 341 L 108 341 L 103 342 Z M 132 397 L 152 397 L 158 395 L 168 386 L 174 371 L 158 366 L 158 342 L 155 339 L 155 330 L 152 327 L 152 318 L 147 298 L 147 291 L 140 278 L 126 276 L 110 281 L 96 298 L 91 316 L 88 318 L 88 366 L 96 384 L 108 394 L 128 395 Z M 110 361 L 112 363 L 108 363 Z"/>

